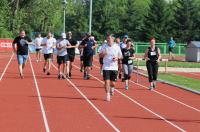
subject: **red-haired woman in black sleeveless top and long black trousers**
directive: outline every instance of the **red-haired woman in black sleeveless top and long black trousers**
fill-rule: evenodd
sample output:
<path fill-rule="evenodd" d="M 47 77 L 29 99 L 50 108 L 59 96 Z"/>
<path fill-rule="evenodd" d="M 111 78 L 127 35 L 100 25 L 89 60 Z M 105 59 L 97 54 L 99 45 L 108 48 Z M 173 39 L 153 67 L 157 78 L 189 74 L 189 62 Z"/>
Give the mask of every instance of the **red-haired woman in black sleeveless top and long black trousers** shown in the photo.
<path fill-rule="evenodd" d="M 155 46 L 155 43 L 155 38 L 151 38 L 150 47 L 148 47 L 144 55 L 149 76 L 149 90 L 153 90 L 154 88 L 156 88 L 158 67 L 161 59 L 160 49 Z"/>

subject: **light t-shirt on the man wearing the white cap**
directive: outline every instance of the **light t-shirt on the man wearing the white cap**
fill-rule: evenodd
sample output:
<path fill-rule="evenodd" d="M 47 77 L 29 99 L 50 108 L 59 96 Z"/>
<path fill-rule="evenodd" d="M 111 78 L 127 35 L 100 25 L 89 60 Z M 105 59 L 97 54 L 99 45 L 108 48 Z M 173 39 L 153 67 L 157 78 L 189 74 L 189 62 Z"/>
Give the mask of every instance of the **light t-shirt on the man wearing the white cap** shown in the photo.
<path fill-rule="evenodd" d="M 70 45 L 70 43 L 66 39 L 63 39 L 63 40 L 60 39 L 57 41 L 57 44 L 56 44 L 57 47 L 63 47 L 63 46 L 69 46 L 69 45 Z M 58 56 L 67 55 L 67 48 L 66 47 L 63 47 L 62 49 L 57 48 L 57 54 L 58 54 Z"/>

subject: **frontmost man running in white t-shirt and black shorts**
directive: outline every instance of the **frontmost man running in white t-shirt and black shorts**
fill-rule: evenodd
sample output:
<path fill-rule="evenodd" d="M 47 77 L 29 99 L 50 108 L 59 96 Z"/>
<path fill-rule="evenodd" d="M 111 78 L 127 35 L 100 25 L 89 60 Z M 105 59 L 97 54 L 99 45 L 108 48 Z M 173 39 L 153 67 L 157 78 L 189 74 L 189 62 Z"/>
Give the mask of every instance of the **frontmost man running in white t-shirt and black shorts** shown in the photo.
<path fill-rule="evenodd" d="M 114 37 L 107 35 L 107 45 L 100 51 L 100 57 L 103 57 L 103 78 L 105 81 L 106 100 L 110 101 L 110 95 L 114 94 L 115 82 L 118 75 L 118 60 L 122 58 L 122 52 L 119 46 L 114 43 Z"/>

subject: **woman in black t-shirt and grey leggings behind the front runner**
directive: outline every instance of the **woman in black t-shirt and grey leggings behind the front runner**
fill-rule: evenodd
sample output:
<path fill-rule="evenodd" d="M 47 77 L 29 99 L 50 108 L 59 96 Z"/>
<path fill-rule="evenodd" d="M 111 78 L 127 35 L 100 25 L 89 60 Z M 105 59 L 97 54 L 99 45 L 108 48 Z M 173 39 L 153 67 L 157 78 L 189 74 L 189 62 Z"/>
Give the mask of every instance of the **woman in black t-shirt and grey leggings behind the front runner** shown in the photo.
<path fill-rule="evenodd" d="M 131 73 L 133 72 L 133 59 L 135 59 L 135 50 L 133 48 L 131 40 L 126 41 L 126 48 L 122 49 L 123 59 L 123 71 L 124 71 L 124 81 L 125 89 L 128 90 L 129 81 L 131 78 Z"/>

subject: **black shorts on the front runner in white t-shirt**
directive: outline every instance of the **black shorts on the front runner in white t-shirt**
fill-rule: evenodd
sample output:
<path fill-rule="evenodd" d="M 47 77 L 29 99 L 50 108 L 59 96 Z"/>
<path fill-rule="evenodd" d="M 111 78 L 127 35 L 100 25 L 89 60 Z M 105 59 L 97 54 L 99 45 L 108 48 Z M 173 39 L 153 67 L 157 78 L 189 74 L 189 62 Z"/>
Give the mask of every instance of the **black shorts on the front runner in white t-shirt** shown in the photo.
<path fill-rule="evenodd" d="M 103 79 L 110 80 L 113 82 L 117 81 L 118 71 L 115 70 L 103 70 Z"/>

